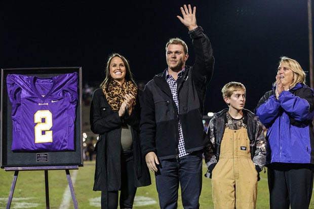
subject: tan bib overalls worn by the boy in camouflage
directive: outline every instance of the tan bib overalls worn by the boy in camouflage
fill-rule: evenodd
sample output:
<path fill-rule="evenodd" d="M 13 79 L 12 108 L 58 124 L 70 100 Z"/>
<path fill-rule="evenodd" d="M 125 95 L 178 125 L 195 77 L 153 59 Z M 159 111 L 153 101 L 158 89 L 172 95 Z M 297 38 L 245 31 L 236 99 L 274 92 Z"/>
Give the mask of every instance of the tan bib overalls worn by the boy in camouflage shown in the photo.
<path fill-rule="evenodd" d="M 255 208 L 257 171 L 247 129 L 225 129 L 219 161 L 212 173 L 212 189 L 215 209 Z"/>

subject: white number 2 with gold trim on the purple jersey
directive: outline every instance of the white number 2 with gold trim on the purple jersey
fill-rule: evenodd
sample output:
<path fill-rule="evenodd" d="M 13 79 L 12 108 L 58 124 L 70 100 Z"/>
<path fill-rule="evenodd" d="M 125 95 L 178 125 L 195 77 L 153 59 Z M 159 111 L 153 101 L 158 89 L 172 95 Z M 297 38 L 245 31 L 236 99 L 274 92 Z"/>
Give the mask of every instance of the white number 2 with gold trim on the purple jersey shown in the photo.
<path fill-rule="evenodd" d="M 44 119 L 44 121 L 43 121 Z M 34 114 L 35 143 L 52 142 L 52 114 L 49 110 L 38 110 Z"/>

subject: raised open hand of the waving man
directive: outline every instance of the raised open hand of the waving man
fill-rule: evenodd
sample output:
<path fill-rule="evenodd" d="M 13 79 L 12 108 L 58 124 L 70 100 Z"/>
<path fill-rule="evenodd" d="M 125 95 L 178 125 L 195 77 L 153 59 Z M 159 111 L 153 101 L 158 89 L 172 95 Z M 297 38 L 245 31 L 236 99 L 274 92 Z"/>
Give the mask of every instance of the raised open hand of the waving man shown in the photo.
<path fill-rule="evenodd" d="M 186 5 L 183 5 L 183 8 L 180 7 L 181 9 L 181 13 L 182 16 L 177 16 L 177 18 L 183 23 L 183 25 L 185 25 L 188 30 L 193 30 L 194 28 L 197 28 L 197 22 L 196 22 L 196 7 L 193 7 L 193 11 L 191 8 L 191 5 L 188 5 L 188 7 L 186 7 Z"/>

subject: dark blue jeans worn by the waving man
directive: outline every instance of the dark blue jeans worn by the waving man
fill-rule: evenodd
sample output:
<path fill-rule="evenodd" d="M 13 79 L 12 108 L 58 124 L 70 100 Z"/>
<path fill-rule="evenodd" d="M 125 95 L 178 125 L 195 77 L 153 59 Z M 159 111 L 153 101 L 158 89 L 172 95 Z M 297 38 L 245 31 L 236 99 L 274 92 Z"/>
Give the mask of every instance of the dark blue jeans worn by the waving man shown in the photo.
<path fill-rule="evenodd" d="M 199 208 L 202 190 L 202 160 L 201 152 L 188 154 L 178 160 L 160 160 L 155 180 L 161 208 L 177 208 L 179 184 L 183 207 Z"/>

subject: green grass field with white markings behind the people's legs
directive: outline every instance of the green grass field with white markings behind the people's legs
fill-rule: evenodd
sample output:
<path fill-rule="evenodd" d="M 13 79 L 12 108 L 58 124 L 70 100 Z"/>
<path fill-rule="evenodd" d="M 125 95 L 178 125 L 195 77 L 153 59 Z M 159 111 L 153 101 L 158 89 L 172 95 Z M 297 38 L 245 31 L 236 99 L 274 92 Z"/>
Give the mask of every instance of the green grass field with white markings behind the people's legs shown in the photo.
<path fill-rule="evenodd" d="M 95 161 L 85 161 L 78 170 L 70 170 L 75 197 L 79 208 L 100 208 L 100 192 L 93 191 Z M 203 173 L 206 166 L 203 166 Z M 0 170 L 0 208 L 6 208 L 14 172 Z M 68 190 L 68 182 L 64 170 L 48 171 L 50 208 L 74 208 Z M 134 208 L 159 208 L 154 177 L 152 185 L 138 188 Z M 211 180 L 204 177 L 201 208 L 213 208 Z M 312 198 L 309 208 L 314 208 Z M 256 208 L 269 208 L 267 174 L 261 172 L 258 182 L 258 196 Z M 20 171 L 18 174 L 11 208 L 46 208 L 45 172 Z M 182 208 L 179 195 L 178 208 Z"/>

